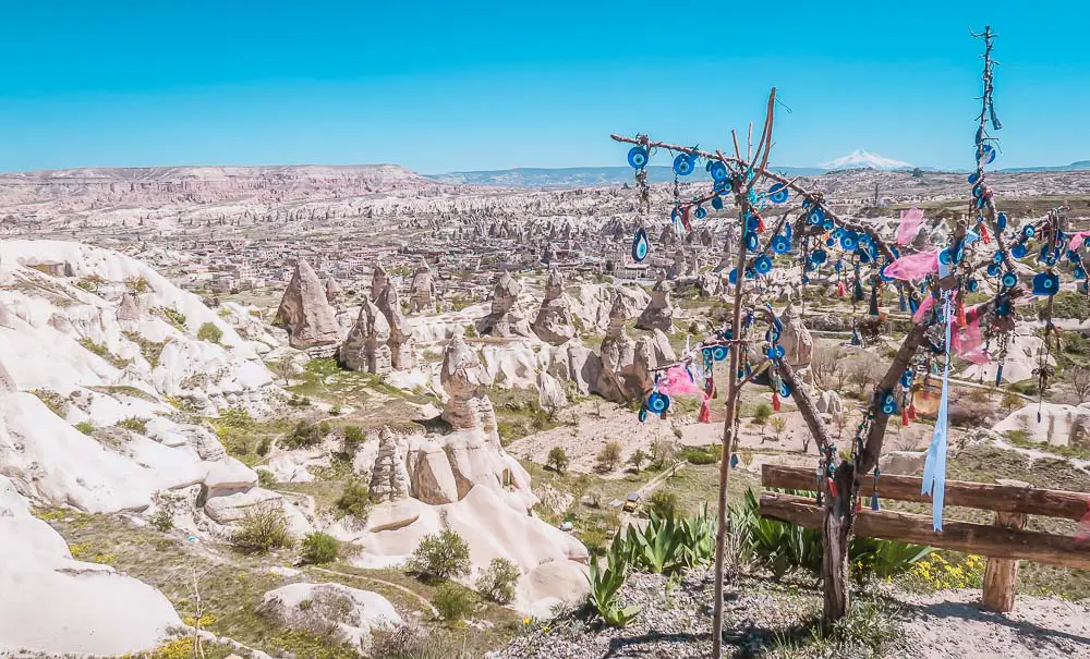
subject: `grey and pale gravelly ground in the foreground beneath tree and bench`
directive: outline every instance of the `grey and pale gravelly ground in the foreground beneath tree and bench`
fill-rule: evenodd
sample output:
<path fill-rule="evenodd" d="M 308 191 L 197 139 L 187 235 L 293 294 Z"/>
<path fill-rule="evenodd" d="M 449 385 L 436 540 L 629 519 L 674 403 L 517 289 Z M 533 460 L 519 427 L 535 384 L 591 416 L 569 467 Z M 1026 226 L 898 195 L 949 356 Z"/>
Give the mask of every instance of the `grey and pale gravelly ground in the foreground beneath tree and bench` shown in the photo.
<path fill-rule="evenodd" d="M 669 587 L 668 587 L 669 586 Z M 1090 607 L 1019 596 L 1007 615 L 982 611 L 980 590 L 911 595 L 885 584 L 869 591 L 880 602 L 879 622 L 898 629 L 875 654 L 867 643 L 814 639 L 821 594 L 801 582 L 776 583 L 740 575 L 725 586 L 724 656 L 829 659 L 1090 659 Z M 623 606 L 643 607 L 623 630 L 588 621 L 578 612 L 534 622 L 489 659 L 705 658 L 711 655 L 712 581 L 690 572 L 671 585 L 663 575 L 634 573 L 620 590 Z M 873 620 L 871 624 L 873 624 Z M 859 625 L 865 636 L 867 625 Z"/>

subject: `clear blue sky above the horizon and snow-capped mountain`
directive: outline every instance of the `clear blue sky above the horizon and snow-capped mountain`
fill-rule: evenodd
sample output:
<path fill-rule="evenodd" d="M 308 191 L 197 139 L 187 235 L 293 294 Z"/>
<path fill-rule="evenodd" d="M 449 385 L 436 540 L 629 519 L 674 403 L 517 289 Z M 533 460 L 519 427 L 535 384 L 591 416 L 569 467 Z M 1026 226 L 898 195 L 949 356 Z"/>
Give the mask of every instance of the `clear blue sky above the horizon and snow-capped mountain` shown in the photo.
<path fill-rule="evenodd" d="M 726 148 L 773 85 L 794 111 L 776 163 L 967 168 L 985 21 L 996 166 L 1063 164 L 1090 159 L 1088 20 L 1087 0 L 7 3 L 0 169 L 622 164 L 610 132 Z"/>

